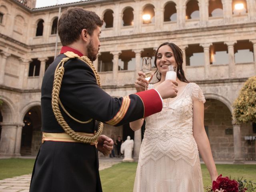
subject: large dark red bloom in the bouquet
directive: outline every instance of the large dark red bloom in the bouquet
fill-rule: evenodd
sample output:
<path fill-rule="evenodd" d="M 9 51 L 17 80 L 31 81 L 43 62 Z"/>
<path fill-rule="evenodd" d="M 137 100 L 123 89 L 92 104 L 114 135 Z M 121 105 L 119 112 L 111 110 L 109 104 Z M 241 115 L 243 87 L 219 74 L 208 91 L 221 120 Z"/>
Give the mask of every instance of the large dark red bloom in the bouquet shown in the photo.
<path fill-rule="evenodd" d="M 220 174 L 216 181 L 212 182 L 212 190 L 215 191 L 216 189 L 224 190 L 224 192 L 238 192 L 238 182 L 236 180 L 230 180 L 228 177 L 222 177 Z"/>

